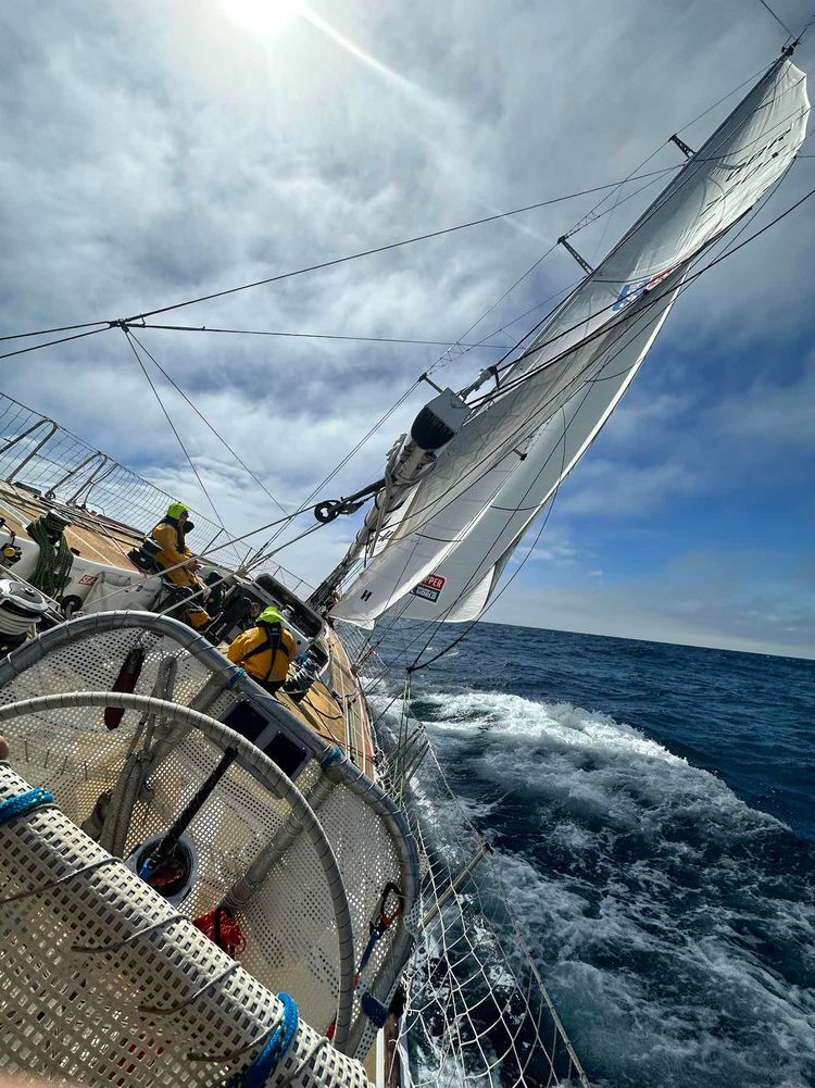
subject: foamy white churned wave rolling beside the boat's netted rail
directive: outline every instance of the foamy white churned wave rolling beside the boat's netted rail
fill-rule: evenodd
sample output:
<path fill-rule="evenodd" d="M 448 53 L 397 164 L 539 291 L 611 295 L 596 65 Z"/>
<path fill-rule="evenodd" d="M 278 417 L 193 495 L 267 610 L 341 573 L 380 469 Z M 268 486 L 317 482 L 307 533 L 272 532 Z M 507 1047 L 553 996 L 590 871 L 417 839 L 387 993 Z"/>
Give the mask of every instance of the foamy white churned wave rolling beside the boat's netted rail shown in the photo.
<path fill-rule="evenodd" d="M 815 1080 L 812 844 L 608 715 L 460 689 L 412 710 L 596 1083 Z"/>

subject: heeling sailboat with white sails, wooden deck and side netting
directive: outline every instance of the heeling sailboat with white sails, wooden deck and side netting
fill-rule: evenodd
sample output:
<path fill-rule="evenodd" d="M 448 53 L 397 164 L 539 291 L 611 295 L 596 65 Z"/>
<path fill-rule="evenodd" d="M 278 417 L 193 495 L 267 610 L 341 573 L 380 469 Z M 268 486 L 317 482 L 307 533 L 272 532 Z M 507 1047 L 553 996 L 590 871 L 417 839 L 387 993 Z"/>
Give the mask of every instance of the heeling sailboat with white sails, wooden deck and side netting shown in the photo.
<path fill-rule="evenodd" d="M 173 496 L 3 398 L 0 1067 L 94 1088 L 588 1088 L 409 701 L 369 709 L 371 629 L 495 599 L 677 298 L 749 243 L 733 226 L 794 162 L 793 48 L 699 149 L 672 137 L 687 161 L 596 268 L 559 239 L 584 274 L 515 351 L 436 387 L 380 480 L 314 507 L 331 526 L 370 500 L 317 588 L 195 515 L 213 611 L 195 630 L 144 556 Z M 275 694 L 224 653 L 268 605 L 298 652 Z"/>

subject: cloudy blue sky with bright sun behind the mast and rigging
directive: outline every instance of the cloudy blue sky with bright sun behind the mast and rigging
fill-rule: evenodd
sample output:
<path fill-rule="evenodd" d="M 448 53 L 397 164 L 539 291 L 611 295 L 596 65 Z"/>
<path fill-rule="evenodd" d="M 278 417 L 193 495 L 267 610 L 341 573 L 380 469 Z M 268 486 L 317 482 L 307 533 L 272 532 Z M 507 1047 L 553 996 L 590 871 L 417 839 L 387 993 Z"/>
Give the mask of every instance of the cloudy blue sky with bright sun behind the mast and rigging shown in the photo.
<path fill-rule="evenodd" d="M 774 7 L 795 30 L 812 15 L 808 0 Z M 699 146 L 786 37 L 757 0 L 61 0 L 7 2 L 0 22 L 4 335 L 131 316 L 616 182 L 674 132 Z M 795 60 L 813 66 L 815 28 Z M 643 169 L 678 161 L 663 147 Z M 802 158 L 754 227 L 813 186 Z M 658 189 L 620 202 L 631 191 L 572 238 L 590 261 Z M 440 358 L 435 379 L 456 388 L 503 355 L 446 345 L 508 346 L 545 312 L 580 273 L 561 249 L 495 302 L 597 199 L 153 319 L 436 347 L 139 337 L 293 509 Z M 815 656 L 814 243 L 815 201 L 683 294 L 489 619 Z M 4 393 L 212 516 L 121 330 L 2 366 Z M 277 517 L 153 376 L 226 524 Z M 320 497 L 381 475 L 428 393 Z M 355 531 L 341 519 L 276 558 L 317 582 Z"/>

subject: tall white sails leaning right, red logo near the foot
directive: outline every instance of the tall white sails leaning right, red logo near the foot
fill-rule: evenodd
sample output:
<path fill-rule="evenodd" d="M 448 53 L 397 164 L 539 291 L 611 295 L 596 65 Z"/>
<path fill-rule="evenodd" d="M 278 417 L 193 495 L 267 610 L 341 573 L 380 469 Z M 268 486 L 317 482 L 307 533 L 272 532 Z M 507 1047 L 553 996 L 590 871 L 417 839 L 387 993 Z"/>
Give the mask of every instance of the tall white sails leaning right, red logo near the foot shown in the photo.
<path fill-rule="evenodd" d="M 789 168 L 804 139 L 804 74 L 779 59 L 440 452 L 379 554 L 332 614 L 478 615 L 524 528 L 608 418 L 691 261 Z"/>

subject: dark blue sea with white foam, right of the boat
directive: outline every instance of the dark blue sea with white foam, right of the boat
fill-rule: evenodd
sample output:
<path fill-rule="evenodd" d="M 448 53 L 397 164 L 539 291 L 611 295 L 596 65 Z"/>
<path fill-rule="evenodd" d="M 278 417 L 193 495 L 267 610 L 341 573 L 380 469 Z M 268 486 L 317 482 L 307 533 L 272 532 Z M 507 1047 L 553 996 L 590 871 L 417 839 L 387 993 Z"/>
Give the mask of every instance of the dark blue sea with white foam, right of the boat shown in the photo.
<path fill-rule="evenodd" d="M 481 623 L 411 709 L 593 1084 L 815 1084 L 815 662 Z"/>

